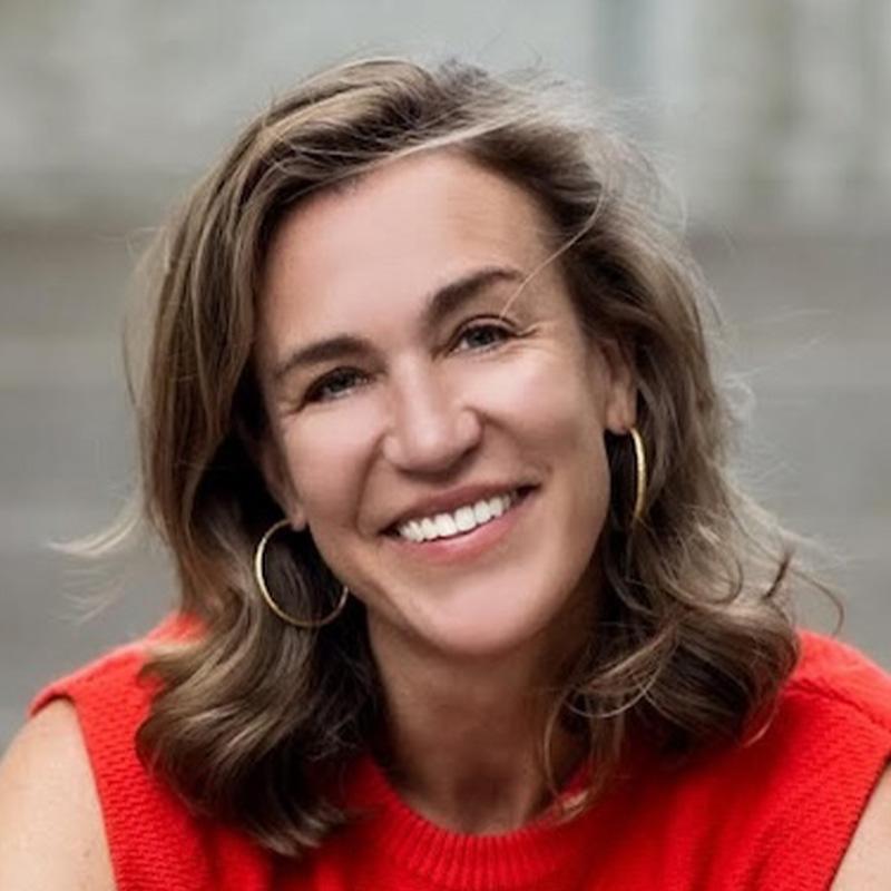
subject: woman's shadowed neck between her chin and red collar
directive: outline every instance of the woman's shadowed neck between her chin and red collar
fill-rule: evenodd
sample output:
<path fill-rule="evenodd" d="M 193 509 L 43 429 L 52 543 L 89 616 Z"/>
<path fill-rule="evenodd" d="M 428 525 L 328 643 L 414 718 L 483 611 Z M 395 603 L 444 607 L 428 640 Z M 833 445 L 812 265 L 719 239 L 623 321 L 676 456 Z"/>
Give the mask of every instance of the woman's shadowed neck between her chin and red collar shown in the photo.
<path fill-rule="evenodd" d="M 566 652 L 566 638 L 560 649 L 546 635 L 522 653 L 450 658 L 383 645 L 370 630 L 386 696 L 381 754 L 405 803 L 474 834 L 508 832 L 539 814 L 551 797 L 546 757 L 559 785 L 584 754 L 559 725 L 547 754 L 542 745 L 565 667 L 552 654 Z"/>

